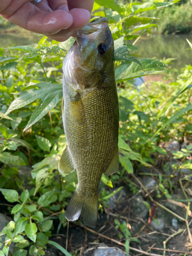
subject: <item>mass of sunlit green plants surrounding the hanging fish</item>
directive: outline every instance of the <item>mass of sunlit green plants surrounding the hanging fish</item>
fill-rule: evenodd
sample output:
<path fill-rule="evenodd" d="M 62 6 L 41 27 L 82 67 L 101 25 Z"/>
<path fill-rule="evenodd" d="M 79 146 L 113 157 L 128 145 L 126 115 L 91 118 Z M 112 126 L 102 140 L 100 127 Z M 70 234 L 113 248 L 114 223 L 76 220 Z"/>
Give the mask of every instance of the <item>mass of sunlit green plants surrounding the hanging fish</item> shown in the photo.
<path fill-rule="evenodd" d="M 152 23 L 154 17 L 142 17 L 141 13 L 175 2 L 118 5 L 112 0 L 95 1 L 94 16 L 106 16 L 112 26 L 120 107 L 121 167 L 111 180 L 102 176 L 101 212 L 109 198 L 122 188 L 116 187 L 110 193 L 104 185 L 112 188 L 121 178 L 129 180 L 135 166 L 150 166 L 159 155 L 166 154 L 161 142 L 179 138 L 183 133 L 191 134 L 191 116 L 186 115 L 191 110 L 188 103 L 191 66 L 183 68 L 175 78 L 175 73 L 167 68 L 169 61 L 149 58 L 138 61 L 130 54 L 134 47 L 123 41 L 138 38 L 144 32 L 150 33 L 151 28 L 156 27 Z M 69 254 L 49 239 L 55 218 L 59 219 L 57 233 L 61 226 L 67 225 L 65 208 L 77 186 L 75 172 L 65 177 L 57 169 L 66 146 L 61 118 L 61 68 L 73 41 L 70 38 L 59 44 L 42 37 L 34 46 L 0 49 L 0 188 L 5 199 L 13 203 L 11 214 L 14 216 L 14 221 L 0 233 L 1 237 L 6 234 L 5 240 L 0 241 L 4 245 L 0 253 L 6 256 L 12 242 L 16 243 L 14 256 L 26 255 L 28 246 L 30 255 L 44 255 L 48 243 Z M 144 83 L 141 87 L 136 86 L 137 79 L 162 73 L 165 75 L 161 82 L 147 87 Z M 167 80 L 174 82 L 167 84 Z M 188 153 L 187 149 L 184 154 Z M 32 187 L 30 190 L 26 189 L 19 175 L 21 165 L 33 168 L 28 182 Z M 168 183 L 165 179 L 160 180 L 156 189 L 159 197 L 170 194 Z M 116 220 L 115 224 L 126 238 L 128 253 L 133 238 L 126 223 L 120 224 Z"/>

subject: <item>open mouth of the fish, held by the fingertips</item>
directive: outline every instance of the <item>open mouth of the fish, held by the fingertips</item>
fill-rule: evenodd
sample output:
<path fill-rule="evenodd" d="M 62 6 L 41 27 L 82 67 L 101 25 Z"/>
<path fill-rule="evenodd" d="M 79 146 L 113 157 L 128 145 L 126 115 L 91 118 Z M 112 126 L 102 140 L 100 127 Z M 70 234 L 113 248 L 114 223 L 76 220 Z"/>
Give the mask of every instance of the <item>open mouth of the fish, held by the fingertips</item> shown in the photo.
<path fill-rule="evenodd" d="M 88 40 L 97 39 L 98 34 L 108 28 L 108 24 L 108 19 L 105 17 L 95 21 L 93 20 L 93 22 L 89 23 L 86 27 L 76 32 L 77 44 L 79 44 L 80 38 L 82 37 L 86 37 Z"/>

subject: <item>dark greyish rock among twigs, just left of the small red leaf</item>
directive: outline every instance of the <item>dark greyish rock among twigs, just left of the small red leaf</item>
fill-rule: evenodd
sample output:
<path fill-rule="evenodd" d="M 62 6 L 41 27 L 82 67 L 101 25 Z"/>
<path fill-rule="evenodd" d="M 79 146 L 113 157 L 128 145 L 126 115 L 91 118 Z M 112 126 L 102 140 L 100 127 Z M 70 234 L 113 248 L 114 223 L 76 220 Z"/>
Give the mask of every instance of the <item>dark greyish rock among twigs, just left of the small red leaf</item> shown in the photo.
<path fill-rule="evenodd" d="M 144 199 L 141 196 L 132 199 L 133 211 L 141 219 L 145 219 L 148 214 L 148 209 L 146 208 L 143 201 Z"/>

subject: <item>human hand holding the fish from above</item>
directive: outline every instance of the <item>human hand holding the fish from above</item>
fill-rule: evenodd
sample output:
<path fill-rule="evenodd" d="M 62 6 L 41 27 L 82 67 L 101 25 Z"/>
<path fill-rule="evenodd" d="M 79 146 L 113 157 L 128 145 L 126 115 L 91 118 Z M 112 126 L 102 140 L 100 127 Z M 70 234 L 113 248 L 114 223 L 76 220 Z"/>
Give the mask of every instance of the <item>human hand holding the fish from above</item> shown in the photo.
<path fill-rule="evenodd" d="M 24 29 L 65 41 L 90 21 L 94 0 L 1 0 L 0 15 Z"/>

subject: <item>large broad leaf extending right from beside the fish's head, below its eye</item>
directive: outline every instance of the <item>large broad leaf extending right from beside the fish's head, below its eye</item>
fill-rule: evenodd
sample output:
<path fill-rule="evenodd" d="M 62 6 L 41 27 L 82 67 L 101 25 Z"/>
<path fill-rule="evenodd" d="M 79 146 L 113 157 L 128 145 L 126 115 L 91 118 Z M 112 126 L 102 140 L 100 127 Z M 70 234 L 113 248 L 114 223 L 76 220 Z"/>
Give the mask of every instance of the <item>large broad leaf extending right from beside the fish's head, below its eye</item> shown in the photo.
<path fill-rule="evenodd" d="M 157 59 L 144 58 L 140 59 L 140 62 L 142 67 L 133 62 L 131 65 L 124 64 L 116 68 L 116 82 L 122 82 L 146 75 L 162 74 L 165 72 L 166 66 Z"/>

